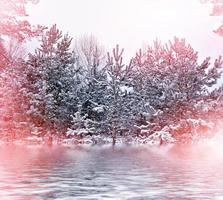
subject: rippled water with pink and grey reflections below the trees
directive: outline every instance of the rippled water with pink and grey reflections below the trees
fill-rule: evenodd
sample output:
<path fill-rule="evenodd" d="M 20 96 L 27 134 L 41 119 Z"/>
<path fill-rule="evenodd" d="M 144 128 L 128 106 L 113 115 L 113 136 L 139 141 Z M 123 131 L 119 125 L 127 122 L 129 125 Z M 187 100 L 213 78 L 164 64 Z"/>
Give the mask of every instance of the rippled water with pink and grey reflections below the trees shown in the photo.
<path fill-rule="evenodd" d="M 0 199 L 223 199 L 209 146 L 0 146 Z"/>

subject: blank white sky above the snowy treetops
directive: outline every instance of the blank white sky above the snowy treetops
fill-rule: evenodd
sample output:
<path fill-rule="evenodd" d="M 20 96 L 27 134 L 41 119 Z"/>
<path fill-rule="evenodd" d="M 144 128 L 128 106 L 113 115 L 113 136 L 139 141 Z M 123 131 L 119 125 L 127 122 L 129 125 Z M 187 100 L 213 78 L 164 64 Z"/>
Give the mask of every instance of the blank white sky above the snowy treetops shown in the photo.
<path fill-rule="evenodd" d="M 202 58 L 223 54 L 223 38 L 213 33 L 219 19 L 210 13 L 199 0 L 40 0 L 28 8 L 33 23 L 56 23 L 74 38 L 93 34 L 108 49 L 120 44 L 127 56 L 174 36 L 186 38 Z"/>

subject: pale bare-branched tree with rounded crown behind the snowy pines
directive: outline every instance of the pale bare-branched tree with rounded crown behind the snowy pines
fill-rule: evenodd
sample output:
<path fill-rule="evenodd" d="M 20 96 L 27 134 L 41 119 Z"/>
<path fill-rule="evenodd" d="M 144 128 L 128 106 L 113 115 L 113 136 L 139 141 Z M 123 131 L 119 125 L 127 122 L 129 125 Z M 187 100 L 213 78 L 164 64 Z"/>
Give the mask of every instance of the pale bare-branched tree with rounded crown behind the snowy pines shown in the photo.
<path fill-rule="evenodd" d="M 86 96 L 83 103 L 91 101 L 95 102 L 95 105 L 103 104 L 107 81 L 103 46 L 94 36 L 84 36 L 76 41 L 74 52 L 79 59 L 82 80 L 85 83 Z"/>

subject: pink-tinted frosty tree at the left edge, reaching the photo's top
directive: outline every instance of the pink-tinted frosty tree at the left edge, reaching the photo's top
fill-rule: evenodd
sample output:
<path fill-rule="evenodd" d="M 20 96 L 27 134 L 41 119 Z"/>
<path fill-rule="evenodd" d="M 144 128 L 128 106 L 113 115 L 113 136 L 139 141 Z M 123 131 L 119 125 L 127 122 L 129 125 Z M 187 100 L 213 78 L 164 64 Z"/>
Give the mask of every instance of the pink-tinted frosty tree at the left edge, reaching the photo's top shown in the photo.
<path fill-rule="evenodd" d="M 28 131 L 23 113 L 21 88 L 25 81 L 22 48 L 27 39 L 39 36 L 42 26 L 32 26 L 26 20 L 26 5 L 34 1 L 0 1 L 0 130 L 1 136 L 20 137 Z M 22 134 L 21 134 L 22 133 Z"/>

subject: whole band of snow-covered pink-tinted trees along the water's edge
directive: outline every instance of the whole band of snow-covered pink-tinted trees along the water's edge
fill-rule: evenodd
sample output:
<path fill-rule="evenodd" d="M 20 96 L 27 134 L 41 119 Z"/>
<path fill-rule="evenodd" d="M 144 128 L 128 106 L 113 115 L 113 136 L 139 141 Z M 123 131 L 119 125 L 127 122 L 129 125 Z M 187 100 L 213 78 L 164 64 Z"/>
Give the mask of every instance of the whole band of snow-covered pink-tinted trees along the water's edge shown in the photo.
<path fill-rule="evenodd" d="M 93 35 L 31 24 L 31 3 L 0 0 L 1 141 L 163 144 L 220 134 L 221 56 L 202 61 L 175 37 L 128 59 L 122 46 L 106 49 Z M 220 1 L 203 3 L 222 15 Z M 214 32 L 222 36 L 223 26 Z M 34 52 L 30 40 L 38 41 Z"/>

